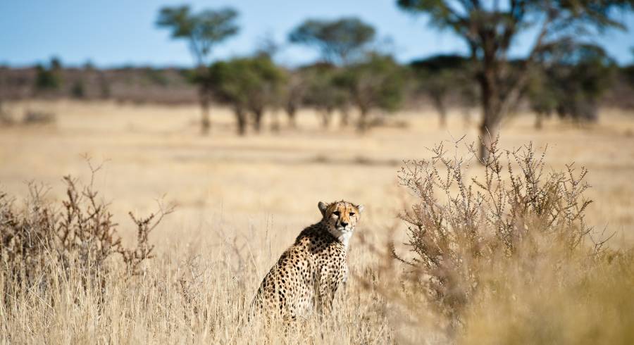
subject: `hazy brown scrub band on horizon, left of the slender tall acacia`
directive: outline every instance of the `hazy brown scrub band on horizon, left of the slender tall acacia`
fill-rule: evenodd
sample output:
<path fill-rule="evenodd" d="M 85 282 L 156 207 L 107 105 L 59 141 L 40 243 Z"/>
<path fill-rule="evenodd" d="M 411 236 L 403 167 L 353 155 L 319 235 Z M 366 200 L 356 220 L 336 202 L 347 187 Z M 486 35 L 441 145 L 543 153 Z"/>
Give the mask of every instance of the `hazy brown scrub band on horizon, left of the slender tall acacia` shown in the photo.
<path fill-rule="evenodd" d="M 193 103 L 196 87 L 190 70 L 122 67 L 99 69 L 91 64 L 63 67 L 53 58 L 46 65 L 0 66 L 0 99 L 116 100 L 132 103 Z"/>

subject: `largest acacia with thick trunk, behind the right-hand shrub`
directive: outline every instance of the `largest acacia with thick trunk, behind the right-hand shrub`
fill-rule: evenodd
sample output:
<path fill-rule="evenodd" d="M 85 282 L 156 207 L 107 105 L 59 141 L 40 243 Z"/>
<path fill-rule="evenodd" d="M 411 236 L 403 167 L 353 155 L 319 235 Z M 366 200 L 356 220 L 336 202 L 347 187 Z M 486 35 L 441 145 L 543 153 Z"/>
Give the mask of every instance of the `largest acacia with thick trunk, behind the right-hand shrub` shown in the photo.
<path fill-rule="evenodd" d="M 525 71 L 539 62 L 540 52 L 576 41 L 592 30 L 623 27 L 615 19 L 615 10 L 631 8 L 630 0 L 397 0 L 397 4 L 405 11 L 430 15 L 433 25 L 451 30 L 466 42 L 480 89 L 482 161 L 489 158 L 487 147 L 497 136 L 502 118 L 526 91 Z M 509 68 L 511 44 L 530 30 L 536 30 L 530 52 L 520 68 Z"/>

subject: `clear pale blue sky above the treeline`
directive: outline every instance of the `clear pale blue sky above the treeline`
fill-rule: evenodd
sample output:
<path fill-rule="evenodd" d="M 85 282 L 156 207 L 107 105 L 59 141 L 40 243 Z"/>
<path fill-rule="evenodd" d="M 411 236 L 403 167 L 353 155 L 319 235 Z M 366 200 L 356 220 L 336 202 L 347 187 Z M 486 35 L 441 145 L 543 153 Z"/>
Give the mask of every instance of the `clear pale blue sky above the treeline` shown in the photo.
<path fill-rule="evenodd" d="M 305 18 L 338 18 L 355 15 L 375 25 L 383 46 L 399 61 L 440 53 L 461 53 L 465 46 L 450 32 L 428 26 L 395 6 L 394 0 L 234 0 L 187 1 L 194 10 L 233 6 L 240 12 L 240 34 L 218 46 L 218 58 L 243 56 L 254 51 L 267 35 L 285 42 L 287 33 Z M 64 64 L 86 61 L 100 67 L 120 65 L 192 65 L 185 42 L 173 41 L 167 30 L 154 25 L 162 6 L 183 2 L 156 0 L 2 0 L 0 1 L 0 63 L 30 65 L 58 56 Z M 597 37 L 619 63 L 634 60 L 634 15 L 623 17 L 630 32 L 611 30 Z M 530 48 L 523 35 L 515 54 Z M 276 56 L 280 63 L 298 65 L 313 61 L 310 49 L 285 45 Z"/>

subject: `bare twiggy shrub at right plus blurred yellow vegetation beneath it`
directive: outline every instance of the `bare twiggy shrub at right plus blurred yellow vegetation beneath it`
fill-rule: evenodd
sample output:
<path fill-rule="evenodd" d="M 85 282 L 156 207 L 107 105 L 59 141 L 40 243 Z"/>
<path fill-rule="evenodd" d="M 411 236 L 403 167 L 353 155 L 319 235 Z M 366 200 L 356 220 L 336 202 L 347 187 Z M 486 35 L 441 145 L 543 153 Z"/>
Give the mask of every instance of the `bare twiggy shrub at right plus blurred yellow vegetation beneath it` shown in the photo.
<path fill-rule="evenodd" d="M 616 315 L 633 310 L 626 295 L 633 257 L 592 239 L 584 220 L 588 171 L 547 171 L 545 153 L 532 145 L 502 151 L 497 142 L 480 162 L 480 179 L 468 175 L 477 162 L 473 145 L 471 159 L 450 156 L 440 144 L 429 161 L 405 163 L 399 179 L 418 202 L 401 215 L 412 255 L 391 249 L 406 264 L 401 301 L 428 310 L 424 322 L 433 319 L 448 339 L 467 343 L 631 340 L 634 318 Z M 575 325 L 577 315 L 592 338 Z M 539 320 L 554 323 L 535 325 Z M 614 323 L 602 326 L 604 320 Z"/>

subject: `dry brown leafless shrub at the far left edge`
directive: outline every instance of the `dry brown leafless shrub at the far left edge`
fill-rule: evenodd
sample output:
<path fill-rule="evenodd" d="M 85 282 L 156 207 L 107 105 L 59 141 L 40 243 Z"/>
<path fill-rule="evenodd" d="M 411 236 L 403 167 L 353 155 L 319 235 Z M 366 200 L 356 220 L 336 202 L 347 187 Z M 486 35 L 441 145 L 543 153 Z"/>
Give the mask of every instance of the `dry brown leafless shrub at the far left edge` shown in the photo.
<path fill-rule="evenodd" d="M 45 201 L 46 189 L 30 184 L 25 206 L 0 192 L 0 288 L 6 306 L 25 291 L 42 293 L 51 285 L 80 277 L 84 291 L 104 289 L 106 279 L 123 263 L 124 277 L 141 272 L 141 263 L 151 258 L 148 235 L 171 208 L 161 207 L 159 217 L 135 218 L 137 244 L 126 248 L 116 232 L 108 204 L 99 201 L 94 174 L 84 187 L 70 176 L 66 200 L 61 207 Z"/>

